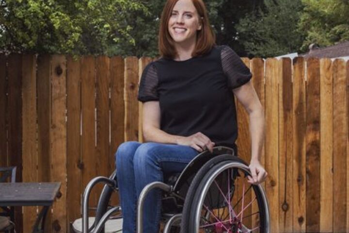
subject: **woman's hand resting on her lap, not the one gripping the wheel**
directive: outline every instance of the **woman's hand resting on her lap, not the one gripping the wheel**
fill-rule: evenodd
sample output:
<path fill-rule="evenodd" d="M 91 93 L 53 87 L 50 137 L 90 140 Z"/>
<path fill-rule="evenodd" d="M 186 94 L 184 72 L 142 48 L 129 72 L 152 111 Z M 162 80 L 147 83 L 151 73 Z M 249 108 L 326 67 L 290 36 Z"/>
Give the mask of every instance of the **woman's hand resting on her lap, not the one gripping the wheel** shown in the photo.
<path fill-rule="evenodd" d="M 190 146 L 195 150 L 202 152 L 204 150 L 209 150 L 213 152 L 213 147 L 215 145 L 204 133 L 198 132 L 187 137 L 179 137 L 177 139 L 178 145 Z"/>

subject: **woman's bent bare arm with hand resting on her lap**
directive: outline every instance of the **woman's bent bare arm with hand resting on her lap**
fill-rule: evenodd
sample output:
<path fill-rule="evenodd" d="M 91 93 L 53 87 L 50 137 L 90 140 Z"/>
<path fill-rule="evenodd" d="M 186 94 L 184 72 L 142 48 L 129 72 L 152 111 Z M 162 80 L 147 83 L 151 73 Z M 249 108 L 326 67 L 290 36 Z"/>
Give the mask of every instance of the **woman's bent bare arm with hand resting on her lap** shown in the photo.
<path fill-rule="evenodd" d="M 212 152 L 214 146 L 214 143 L 200 132 L 184 137 L 160 130 L 159 101 L 143 103 L 143 138 L 146 142 L 186 145 L 200 152 L 206 149 Z"/>

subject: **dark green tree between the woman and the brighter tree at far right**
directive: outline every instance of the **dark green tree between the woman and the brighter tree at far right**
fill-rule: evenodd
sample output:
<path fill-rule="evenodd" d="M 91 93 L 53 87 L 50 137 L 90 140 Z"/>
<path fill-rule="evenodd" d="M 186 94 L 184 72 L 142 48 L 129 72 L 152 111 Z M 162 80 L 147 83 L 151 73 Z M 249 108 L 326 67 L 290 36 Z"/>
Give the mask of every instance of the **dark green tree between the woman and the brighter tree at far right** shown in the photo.
<path fill-rule="evenodd" d="M 248 55 L 273 57 L 300 51 L 302 8 L 301 0 L 265 0 L 263 8 L 241 19 L 237 30 Z"/>

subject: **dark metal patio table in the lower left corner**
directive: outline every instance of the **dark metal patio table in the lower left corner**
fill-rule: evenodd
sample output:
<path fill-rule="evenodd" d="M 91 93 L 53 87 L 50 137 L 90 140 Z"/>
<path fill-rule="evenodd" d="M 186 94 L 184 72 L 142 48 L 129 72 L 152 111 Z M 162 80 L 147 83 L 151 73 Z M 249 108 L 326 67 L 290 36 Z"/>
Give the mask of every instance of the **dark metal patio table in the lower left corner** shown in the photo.
<path fill-rule="evenodd" d="M 43 233 L 48 208 L 60 187 L 61 183 L 0 183 L 0 206 L 43 206 L 32 229 Z"/>

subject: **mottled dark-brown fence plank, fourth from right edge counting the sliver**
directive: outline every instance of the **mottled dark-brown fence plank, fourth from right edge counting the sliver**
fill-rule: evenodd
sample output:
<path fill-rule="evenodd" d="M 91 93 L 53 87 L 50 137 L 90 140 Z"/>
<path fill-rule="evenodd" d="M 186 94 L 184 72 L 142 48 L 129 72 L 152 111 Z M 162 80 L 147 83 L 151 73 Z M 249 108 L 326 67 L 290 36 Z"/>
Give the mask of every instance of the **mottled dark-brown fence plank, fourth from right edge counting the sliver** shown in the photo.
<path fill-rule="evenodd" d="M 320 67 L 319 60 L 307 60 L 306 84 L 306 231 L 320 230 Z"/>

